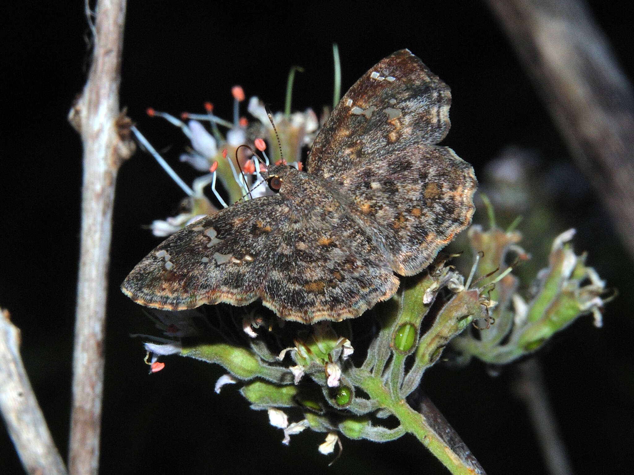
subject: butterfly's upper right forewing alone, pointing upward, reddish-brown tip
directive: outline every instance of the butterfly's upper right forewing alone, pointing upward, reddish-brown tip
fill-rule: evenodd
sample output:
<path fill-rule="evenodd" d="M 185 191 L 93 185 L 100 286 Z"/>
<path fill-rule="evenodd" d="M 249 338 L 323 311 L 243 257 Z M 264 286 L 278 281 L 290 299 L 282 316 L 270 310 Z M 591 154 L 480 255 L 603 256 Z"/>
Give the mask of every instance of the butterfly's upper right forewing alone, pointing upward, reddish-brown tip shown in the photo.
<path fill-rule="evenodd" d="M 436 144 L 450 128 L 448 85 L 409 50 L 368 70 L 339 101 L 316 137 L 307 171 L 323 178 L 398 150 Z"/>

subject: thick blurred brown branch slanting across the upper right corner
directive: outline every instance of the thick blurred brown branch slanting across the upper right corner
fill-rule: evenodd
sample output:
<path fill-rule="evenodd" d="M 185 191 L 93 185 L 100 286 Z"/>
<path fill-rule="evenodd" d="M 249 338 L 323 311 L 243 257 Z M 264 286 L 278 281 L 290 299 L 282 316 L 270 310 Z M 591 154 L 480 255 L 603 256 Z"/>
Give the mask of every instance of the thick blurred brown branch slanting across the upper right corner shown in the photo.
<path fill-rule="evenodd" d="M 487 0 L 634 257 L 634 94 L 579 0 Z"/>

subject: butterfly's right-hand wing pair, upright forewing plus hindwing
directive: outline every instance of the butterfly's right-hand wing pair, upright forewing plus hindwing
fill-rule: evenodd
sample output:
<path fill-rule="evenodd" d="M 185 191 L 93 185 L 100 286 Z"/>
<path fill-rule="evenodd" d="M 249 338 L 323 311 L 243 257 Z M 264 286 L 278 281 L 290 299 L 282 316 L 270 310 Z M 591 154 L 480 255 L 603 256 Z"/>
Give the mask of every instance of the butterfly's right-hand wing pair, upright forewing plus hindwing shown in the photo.
<path fill-rule="evenodd" d="M 398 274 L 427 267 L 474 213 L 472 167 L 435 146 L 450 128 L 449 87 L 404 49 L 379 61 L 341 99 L 307 169 L 356 206 Z"/>

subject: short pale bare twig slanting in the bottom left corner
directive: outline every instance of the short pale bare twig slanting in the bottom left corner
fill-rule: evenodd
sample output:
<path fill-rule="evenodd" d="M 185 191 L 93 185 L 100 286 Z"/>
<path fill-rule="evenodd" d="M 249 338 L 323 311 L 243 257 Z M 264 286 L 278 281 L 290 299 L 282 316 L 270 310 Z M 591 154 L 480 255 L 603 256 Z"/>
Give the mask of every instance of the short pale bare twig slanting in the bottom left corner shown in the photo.
<path fill-rule="evenodd" d="M 20 330 L 0 310 L 0 411 L 29 474 L 66 474 L 20 357 Z"/>

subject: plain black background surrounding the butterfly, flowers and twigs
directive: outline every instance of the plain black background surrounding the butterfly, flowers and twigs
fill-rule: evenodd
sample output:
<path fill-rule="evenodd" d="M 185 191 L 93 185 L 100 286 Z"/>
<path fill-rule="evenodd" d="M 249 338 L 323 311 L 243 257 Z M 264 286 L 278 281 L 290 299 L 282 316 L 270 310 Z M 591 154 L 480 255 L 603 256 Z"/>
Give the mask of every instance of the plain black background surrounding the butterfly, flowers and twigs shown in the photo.
<path fill-rule="evenodd" d="M 631 77 L 631 16 L 620 3 L 593 1 Z M 60 452 L 67 453 L 70 376 L 79 254 L 81 143 L 66 122 L 84 84 L 89 52 L 83 3 L 25 1 L 5 7 L 3 46 L 4 153 L 0 172 L 0 305 L 22 329 L 22 353 Z M 509 144 L 535 149 L 548 161 L 569 161 L 498 25 L 480 2 L 383 2 L 327 5 L 133 1 L 129 4 L 121 103 L 157 148 L 176 162 L 184 141 L 177 130 L 145 116 L 153 106 L 177 114 L 202 111 L 210 100 L 230 118 L 230 87 L 241 84 L 283 108 L 288 68 L 297 77 L 294 109 L 332 102 L 331 44 L 340 47 L 344 91 L 370 66 L 408 47 L 451 85 L 452 129 L 445 141 L 474 164 Z M 243 113 L 245 111 L 243 110 Z M 171 155 L 170 155 L 171 153 Z M 194 172 L 176 163 L 191 182 Z M 306 431 L 290 447 L 265 412 L 249 409 L 228 387 L 213 392 L 219 367 L 166 358 L 148 376 L 145 351 L 130 333 L 149 331 L 119 283 L 158 243 L 141 229 L 171 215 L 181 191 L 157 165 L 137 153 L 120 169 L 111 253 L 101 473 L 444 473 L 411 436 L 382 445 L 344 440 L 342 458 L 328 468 L 316 448 L 323 434 Z M 578 250 L 618 287 L 605 326 L 584 317 L 541 352 L 562 435 L 578 473 L 619 472 L 633 445 L 631 260 L 611 234 L 609 219 L 590 196 L 552 232 L 588 222 Z M 578 222 L 576 224 L 576 222 Z M 510 390 L 513 371 L 492 378 L 484 365 L 451 371 L 434 367 L 423 385 L 474 452 L 495 473 L 544 471 L 524 407 Z M 0 431 L 0 472 L 22 468 Z"/>

